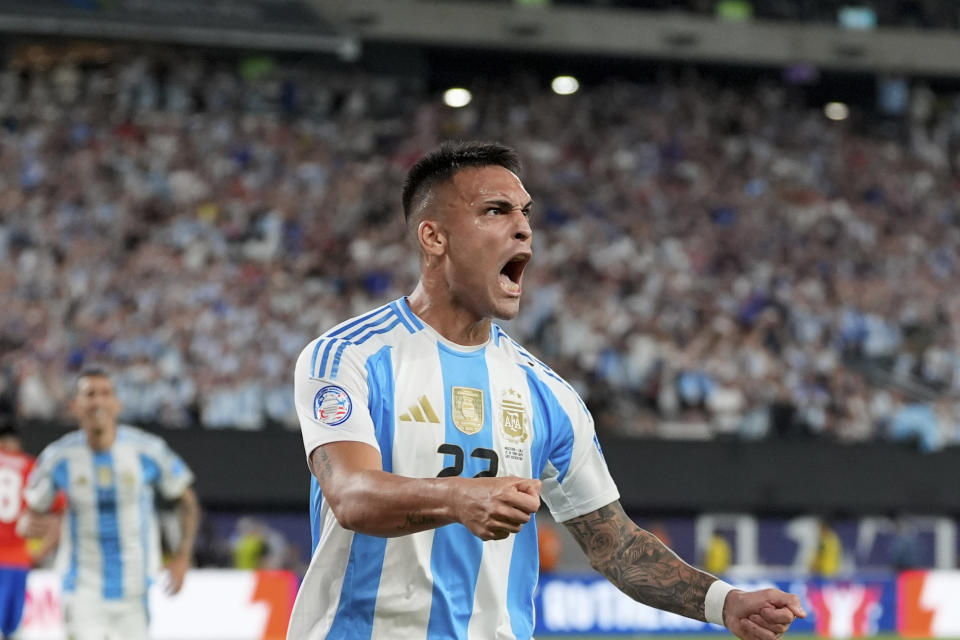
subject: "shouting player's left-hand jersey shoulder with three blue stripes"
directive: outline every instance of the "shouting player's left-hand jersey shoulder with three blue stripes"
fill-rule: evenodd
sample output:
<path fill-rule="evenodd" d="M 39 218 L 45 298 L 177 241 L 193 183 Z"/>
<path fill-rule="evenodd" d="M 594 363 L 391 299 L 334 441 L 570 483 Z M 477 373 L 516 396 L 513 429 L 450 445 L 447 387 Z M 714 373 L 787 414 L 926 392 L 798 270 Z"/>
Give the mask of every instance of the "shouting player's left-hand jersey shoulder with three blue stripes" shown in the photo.
<path fill-rule="evenodd" d="M 365 360 L 384 346 L 396 346 L 423 329 L 403 298 L 345 320 L 310 341 L 297 360 L 298 373 L 336 376 L 344 358 Z"/>

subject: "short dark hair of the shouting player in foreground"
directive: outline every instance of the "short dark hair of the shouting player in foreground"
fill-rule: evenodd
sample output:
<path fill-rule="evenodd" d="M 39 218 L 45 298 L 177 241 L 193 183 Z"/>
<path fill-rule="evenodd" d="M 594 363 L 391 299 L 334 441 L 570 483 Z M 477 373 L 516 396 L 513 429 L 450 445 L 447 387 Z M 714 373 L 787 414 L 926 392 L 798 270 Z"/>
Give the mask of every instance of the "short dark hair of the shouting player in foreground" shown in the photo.
<path fill-rule="evenodd" d="M 409 222 L 414 201 L 435 184 L 449 180 L 465 167 L 503 167 L 519 175 L 520 156 L 510 147 L 498 142 L 457 141 L 444 142 L 420 158 L 403 183 L 403 217 Z"/>

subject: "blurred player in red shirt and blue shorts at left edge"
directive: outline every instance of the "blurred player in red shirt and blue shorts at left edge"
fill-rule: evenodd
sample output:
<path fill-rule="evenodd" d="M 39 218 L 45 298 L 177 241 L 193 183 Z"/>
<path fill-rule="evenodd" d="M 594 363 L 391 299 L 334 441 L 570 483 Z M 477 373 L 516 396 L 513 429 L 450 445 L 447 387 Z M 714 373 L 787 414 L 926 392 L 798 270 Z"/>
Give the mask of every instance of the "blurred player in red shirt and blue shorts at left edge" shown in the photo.
<path fill-rule="evenodd" d="M 33 464 L 33 456 L 20 449 L 13 419 L 0 419 L 0 638 L 12 638 L 20 626 L 27 572 L 43 561 L 57 541 L 57 527 L 49 519 L 34 527 L 41 534 L 35 544 L 17 531 L 25 511 L 23 489 Z"/>

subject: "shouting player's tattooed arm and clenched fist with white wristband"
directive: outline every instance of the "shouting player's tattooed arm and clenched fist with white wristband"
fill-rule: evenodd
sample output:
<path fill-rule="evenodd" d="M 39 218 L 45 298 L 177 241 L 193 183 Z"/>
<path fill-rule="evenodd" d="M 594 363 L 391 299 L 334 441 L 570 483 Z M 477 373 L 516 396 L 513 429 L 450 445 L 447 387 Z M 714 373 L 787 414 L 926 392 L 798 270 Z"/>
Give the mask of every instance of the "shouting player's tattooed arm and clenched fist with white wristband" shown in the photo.
<path fill-rule="evenodd" d="M 719 600 L 709 621 L 722 619 L 734 635 L 753 640 L 774 640 L 795 617 L 806 615 L 794 595 L 778 589 L 731 590 L 709 573 L 690 566 L 656 536 L 638 527 L 619 502 L 564 525 L 594 569 L 634 600 L 652 607 L 708 620 L 705 606 L 713 587 Z"/>

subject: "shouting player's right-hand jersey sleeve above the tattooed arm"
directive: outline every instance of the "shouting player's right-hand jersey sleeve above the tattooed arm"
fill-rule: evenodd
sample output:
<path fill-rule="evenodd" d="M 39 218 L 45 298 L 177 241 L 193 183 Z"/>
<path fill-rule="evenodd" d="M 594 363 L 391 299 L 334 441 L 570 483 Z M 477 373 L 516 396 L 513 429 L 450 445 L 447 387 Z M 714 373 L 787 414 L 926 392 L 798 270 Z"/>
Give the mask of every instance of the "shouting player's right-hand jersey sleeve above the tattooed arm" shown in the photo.
<path fill-rule="evenodd" d="M 557 522 L 595 511 L 620 498 L 600 450 L 593 417 L 571 387 L 544 383 L 551 440 L 541 495 Z"/>

